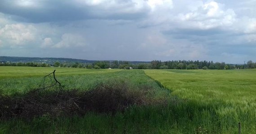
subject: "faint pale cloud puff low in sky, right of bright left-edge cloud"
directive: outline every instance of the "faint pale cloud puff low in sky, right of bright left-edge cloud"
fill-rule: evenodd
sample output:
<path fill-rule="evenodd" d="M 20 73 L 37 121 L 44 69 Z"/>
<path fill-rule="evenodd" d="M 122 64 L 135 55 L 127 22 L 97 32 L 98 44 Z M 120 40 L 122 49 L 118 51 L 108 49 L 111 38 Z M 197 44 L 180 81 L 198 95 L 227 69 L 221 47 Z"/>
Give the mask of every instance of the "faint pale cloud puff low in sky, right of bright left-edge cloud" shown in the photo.
<path fill-rule="evenodd" d="M 85 46 L 85 39 L 81 35 L 77 34 L 63 34 L 62 40 L 55 44 L 54 48 L 69 48 Z"/>

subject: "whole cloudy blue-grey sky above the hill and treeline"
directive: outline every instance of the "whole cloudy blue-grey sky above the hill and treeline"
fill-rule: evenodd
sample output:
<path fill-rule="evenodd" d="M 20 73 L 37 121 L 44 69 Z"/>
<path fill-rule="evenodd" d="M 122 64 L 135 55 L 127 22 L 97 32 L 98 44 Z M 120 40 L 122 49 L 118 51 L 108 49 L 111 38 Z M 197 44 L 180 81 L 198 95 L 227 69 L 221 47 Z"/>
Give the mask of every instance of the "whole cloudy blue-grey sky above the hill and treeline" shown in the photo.
<path fill-rule="evenodd" d="M 256 62 L 256 0 L 0 0 L 0 56 Z"/>

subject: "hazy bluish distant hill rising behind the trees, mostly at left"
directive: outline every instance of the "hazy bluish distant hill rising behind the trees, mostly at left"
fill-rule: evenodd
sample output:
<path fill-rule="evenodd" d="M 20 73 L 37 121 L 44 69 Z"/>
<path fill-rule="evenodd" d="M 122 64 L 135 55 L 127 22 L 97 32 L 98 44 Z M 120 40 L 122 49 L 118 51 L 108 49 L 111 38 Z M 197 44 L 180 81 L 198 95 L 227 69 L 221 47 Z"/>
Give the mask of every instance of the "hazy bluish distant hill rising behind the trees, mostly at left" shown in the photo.
<path fill-rule="evenodd" d="M 113 61 L 113 60 L 108 60 Z M 53 64 L 55 62 L 59 63 L 94 63 L 97 60 L 86 60 L 86 59 L 71 59 L 71 58 L 39 58 L 39 57 L 12 57 L 12 56 L 0 56 L 0 62 L 11 62 L 11 63 L 49 63 Z M 129 61 L 132 64 L 136 63 L 150 63 L 141 61 Z"/>

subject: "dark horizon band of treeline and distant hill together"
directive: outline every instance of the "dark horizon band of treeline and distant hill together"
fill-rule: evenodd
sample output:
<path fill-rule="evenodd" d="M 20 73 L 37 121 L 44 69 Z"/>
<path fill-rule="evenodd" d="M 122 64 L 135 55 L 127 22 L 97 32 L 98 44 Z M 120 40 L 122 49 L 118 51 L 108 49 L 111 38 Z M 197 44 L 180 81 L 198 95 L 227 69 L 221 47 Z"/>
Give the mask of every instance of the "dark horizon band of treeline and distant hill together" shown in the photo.
<path fill-rule="evenodd" d="M 73 67 L 73 68 L 87 68 L 87 69 L 253 69 L 256 68 L 256 63 L 252 60 L 244 64 L 227 64 L 225 62 L 213 61 L 199 61 L 199 60 L 172 60 L 161 61 L 152 60 L 151 62 L 143 61 L 93 61 L 83 59 L 66 59 L 66 58 L 29 58 L 29 57 L 8 57 L 0 56 L 0 66 L 18 66 L 18 67 Z"/>

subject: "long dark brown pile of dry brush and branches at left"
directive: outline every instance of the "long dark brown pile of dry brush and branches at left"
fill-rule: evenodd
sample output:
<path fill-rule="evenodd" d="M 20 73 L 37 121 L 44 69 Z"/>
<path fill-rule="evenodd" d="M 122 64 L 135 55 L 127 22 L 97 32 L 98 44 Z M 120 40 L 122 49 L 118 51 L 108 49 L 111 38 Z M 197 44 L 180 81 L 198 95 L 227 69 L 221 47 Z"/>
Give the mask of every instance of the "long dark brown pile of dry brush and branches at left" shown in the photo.
<path fill-rule="evenodd" d="M 54 72 L 53 72 L 54 73 Z M 55 77 L 54 77 L 55 78 Z M 12 96 L 0 95 L 0 119 L 22 117 L 31 119 L 49 114 L 52 117 L 85 115 L 87 112 L 124 112 L 132 105 L 165 104 L 155 100 L 150 86 L 131 86 L 127 80 L 97 82 L 92 89 L 64 90 L 61 86 L 33 89 Z M 60 84 L 60 83 L 59 83 Z"/>

